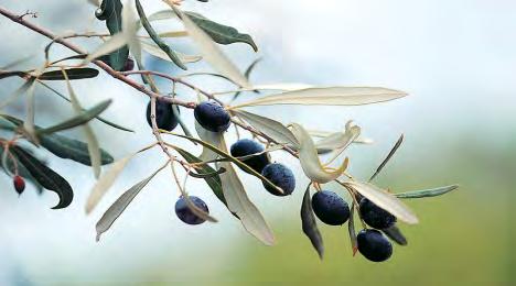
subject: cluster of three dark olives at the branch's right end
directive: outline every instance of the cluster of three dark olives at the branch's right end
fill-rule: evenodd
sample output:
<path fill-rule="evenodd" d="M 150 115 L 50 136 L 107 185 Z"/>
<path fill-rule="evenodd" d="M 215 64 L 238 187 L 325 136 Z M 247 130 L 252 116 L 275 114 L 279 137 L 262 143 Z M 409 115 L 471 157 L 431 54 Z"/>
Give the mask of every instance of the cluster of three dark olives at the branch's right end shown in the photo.
<path fill-rule="evenodd" d="M 321 190 L 312 196 L 312 209 L 322 222 L 330 226 L 341 226 L 350 219 L 347 202 L 330 190 Z M 396 217 L 366 198 L 361 199 L 359 212 L 364 222 L 374 229 L 358 232 L 356 237 L 358 251 L 369 261 L 388 260 L 393 255 L 393 244 L 378 230 L 393 227 Z"/>

